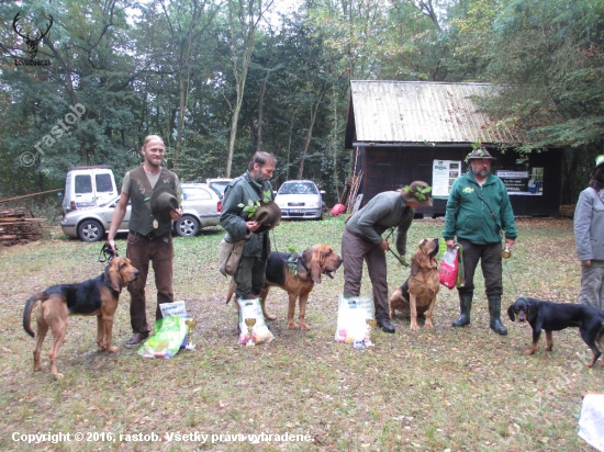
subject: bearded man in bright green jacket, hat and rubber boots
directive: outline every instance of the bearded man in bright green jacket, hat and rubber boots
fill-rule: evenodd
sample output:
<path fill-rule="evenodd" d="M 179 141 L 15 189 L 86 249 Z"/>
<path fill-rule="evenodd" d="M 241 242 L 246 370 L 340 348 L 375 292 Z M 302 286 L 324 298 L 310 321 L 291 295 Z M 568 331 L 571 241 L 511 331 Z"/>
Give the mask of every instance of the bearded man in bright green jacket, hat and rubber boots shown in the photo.
<path fill-rule="evenodd" d="M 482 275 L 491 329 L 507 335 L 501 323 L 501 295 L 503 293 L 501 265 L 501 238 L 505 231 L 505 246 L 512 248 L 518 231 L 507 190 L 502 180 L 491 174 L 491 161 L 495 160 L 485 148 L 477 148 L 466 159 L 468 172 L 457 179 L 449 194 L 443 237 L 448 248 L 455 246 L 455 237 L 463 247 L 466 283 L 458 287 L 460 316 L 454 327 L 470 324 L 470 309 L 474 291 L 474 271 L 481 260 Z"/>

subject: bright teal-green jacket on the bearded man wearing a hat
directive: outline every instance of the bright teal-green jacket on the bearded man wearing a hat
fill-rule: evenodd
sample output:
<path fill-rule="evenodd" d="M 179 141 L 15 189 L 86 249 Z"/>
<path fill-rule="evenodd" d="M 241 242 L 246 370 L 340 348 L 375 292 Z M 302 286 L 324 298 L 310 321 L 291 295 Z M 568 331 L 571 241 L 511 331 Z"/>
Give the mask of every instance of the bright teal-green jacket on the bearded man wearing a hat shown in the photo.
<path fill-rule="evenodd" d="M 454 240 L 457 236 L 486 245 L 501 242 L 502 230 L 506 238 L 515 239 L 518 235 L 505 185 L 500 178 L 489 174 L 480 187 L 469 170 L 451 187 L 443 237 Z"/>

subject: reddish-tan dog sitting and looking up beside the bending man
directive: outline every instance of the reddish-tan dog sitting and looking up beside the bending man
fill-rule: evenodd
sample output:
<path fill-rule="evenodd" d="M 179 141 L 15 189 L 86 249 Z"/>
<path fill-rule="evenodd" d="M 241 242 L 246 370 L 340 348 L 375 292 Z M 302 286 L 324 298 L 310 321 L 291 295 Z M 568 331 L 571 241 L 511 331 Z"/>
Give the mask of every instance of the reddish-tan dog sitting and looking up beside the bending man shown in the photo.
<path fill-rule="evenodd" d="M 426 328 L 433 328 L 432 312 L 436 304 L 436 294 L 440 289 L 438 275 L 438 238 L 425 238 L 417 245 L 413 255 L 411 274 L 402 286 L 396 289 L 390 297 L 390 318 L 394 310 L 402 310 L 404 316 L 411 317 L 411 329 L 416 331 L 417 315 L 426 319 Z"/>

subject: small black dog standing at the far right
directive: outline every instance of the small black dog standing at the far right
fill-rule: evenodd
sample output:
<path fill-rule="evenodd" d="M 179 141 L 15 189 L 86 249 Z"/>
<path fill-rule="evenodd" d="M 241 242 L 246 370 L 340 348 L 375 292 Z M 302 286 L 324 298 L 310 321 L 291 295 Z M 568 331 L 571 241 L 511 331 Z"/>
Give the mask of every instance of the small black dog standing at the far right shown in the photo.
<path fill-rule="evenodd" d="M 579 304 L 541 302 L 539 300 L 521 297 L 507 308 L 510 319 L 528 321 L 533 328 L 533 344 L 526 354 L 535 353 L 541 329 L 546 331 L 547 351 L 551 351 L 553 342 L 551 331 L 559 331 L 568 327 L 579 327 L 581 337 L 593 352 L 593 359 L 588 368 L 595 364 L 604 349 L 604 312 L 595 307 Z"/>

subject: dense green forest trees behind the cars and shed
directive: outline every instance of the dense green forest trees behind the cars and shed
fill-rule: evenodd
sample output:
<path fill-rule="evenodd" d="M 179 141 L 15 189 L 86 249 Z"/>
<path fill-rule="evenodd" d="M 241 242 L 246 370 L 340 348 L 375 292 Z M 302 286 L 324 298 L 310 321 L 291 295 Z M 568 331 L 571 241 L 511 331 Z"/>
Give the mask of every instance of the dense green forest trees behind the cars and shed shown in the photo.
<path fill-rule="evenodd" d="M 78 165 L 120 183 L 158 134 L 181 180 L 238 176 L 267 150 L 275 187 L 312 179 L 332 205 L 350 80 L 507 86 L 482 108 L 528 133 L 525 152 L 567 147 L 562 204 L 603 152 L 602 0 L 2 1 L 0 21 L 0 199 L 60 189 Z M 27 66 L 22 36 L 47 30 L 49 64 Z"/>

